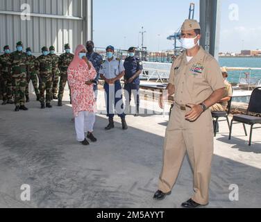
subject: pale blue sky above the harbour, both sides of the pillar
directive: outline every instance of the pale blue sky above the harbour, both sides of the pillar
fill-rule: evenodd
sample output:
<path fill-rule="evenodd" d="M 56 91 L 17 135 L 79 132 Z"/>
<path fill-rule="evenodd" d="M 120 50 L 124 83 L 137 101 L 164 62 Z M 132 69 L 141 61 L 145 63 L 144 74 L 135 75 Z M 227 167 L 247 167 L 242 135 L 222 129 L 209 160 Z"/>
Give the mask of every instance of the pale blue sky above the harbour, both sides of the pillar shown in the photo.
<path fill-rule="evenodd" d="M 172 49 L 173 42 L 167 36 L 188 17 L 191 2 L 196 5 L 195 19 L 199 20 L 199 0 L 94 0 L 94 42 L 96 46 L 112 44 L 121 49 L 138 46 L 144 26 L 144 46 L 149 51 Z M 221 2 L 220 51 L 261 49 L 261 1 Z"/>

